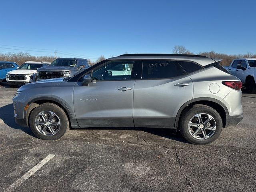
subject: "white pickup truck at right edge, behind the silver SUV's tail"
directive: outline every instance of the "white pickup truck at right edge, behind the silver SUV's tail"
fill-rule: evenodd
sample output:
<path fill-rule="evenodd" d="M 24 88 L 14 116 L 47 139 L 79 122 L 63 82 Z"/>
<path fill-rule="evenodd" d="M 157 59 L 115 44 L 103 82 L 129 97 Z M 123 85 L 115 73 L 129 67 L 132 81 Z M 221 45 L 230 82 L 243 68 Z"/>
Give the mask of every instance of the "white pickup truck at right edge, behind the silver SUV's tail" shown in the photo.
<path fill-rule="evenodd" d="M 256 58 L 234 59 L 224 68 L 242 81 L 248 93 L 256 93 Z"/>

